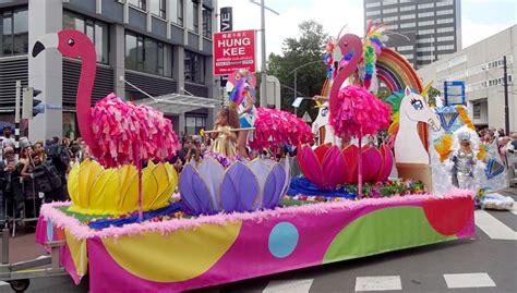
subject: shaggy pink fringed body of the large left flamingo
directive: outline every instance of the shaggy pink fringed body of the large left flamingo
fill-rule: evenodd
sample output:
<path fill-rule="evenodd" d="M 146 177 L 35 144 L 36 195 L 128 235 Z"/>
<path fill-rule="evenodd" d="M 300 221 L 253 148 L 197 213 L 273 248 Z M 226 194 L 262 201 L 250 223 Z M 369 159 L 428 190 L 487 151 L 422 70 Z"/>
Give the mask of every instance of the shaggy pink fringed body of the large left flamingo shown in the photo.
<path fill-rule="evenodd" d="M 172 123 L 164 113 L 125 102 L 115 94 L 92 108 L 92 122 L 94 138 L 98 142 L 92 149 L 93 156 L 106 168 L 137 160 L 165 160 L 180 149 Z"/>

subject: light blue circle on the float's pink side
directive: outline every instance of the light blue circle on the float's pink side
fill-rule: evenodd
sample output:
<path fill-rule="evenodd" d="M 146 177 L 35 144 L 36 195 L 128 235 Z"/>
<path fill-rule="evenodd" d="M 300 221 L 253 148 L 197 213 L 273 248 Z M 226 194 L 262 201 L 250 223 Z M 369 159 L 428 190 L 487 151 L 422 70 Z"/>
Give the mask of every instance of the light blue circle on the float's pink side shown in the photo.
<path fill-rule="evenodd" d="M 269 253 L 277 258 L 289 256 L 298 245 L 298 229 L 290 222 L 277 223 L 269 233 Z"/>

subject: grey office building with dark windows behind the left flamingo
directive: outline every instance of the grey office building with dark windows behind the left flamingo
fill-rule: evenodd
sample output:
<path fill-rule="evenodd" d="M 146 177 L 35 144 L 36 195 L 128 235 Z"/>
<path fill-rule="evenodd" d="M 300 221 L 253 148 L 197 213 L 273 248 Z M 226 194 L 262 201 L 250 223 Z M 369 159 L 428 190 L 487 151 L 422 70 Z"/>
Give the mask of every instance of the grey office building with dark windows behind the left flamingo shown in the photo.
<path fill-rule="evenodd" d="M 38 98 L 48 107 L 31 121 L 32 139 L 80 136 L 81 62 L 51 50 L 29 56 L 37 38 L 68 28 L 85 33 L 95 45 L 94 101 L 116 93 L 149 105 L 172 120 L 179 135 L 211 127 L 219 105 L 212 69 L 216 7 L 216 0 L 0 1 L 1 120 L 14 121 L 15 81 L 21 80 L 43 90 Z"/>

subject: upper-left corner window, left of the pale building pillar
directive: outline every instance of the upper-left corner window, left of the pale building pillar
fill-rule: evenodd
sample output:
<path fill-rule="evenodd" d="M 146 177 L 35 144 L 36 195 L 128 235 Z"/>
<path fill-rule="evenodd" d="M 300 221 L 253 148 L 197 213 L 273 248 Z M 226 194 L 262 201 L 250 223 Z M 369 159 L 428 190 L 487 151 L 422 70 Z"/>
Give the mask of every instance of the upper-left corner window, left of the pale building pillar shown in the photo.
<path fill-rule="evenodd" d="M 2 56 L 28 52 L 28 12 L 26 8 L 0 12 L 0 37 Z"/>

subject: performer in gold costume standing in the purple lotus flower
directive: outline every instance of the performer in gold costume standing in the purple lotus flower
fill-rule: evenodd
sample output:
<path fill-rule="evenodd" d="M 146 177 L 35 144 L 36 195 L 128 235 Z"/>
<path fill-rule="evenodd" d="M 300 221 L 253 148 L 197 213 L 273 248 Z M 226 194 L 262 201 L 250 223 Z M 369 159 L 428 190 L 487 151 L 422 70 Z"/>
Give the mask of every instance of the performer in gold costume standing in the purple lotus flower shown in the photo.
<path fill-rule="evenodd" d="M 233 107 L 229 106 L 219 110 L 214 129 L 215 133 L 212 133 L 214 142 L 211 151 L 223 157 L 236 157 L 237 134 L 232 129 L 239 127 L 239 115 Z"/>

